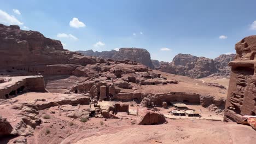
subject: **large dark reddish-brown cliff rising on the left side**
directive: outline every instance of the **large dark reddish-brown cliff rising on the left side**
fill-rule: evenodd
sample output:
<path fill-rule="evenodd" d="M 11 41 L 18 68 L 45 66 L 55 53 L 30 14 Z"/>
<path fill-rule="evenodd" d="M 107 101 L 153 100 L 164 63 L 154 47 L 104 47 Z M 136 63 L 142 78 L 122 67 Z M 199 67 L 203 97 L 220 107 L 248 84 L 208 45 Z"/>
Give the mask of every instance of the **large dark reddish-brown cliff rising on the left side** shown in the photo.
<path fill-rule="evenodd" d="M 35 31 L 22 31 L 19 26 L 0 24 L 0 69 L 32 74 L 70 74 L 77 64 L 96 63 L 96 59 L 64 50 L 59 40 L 45 38 Z M 70 65 L 61 65 L 70 64 Z M 0 70 L 0 74 L 5 75 Z"/>

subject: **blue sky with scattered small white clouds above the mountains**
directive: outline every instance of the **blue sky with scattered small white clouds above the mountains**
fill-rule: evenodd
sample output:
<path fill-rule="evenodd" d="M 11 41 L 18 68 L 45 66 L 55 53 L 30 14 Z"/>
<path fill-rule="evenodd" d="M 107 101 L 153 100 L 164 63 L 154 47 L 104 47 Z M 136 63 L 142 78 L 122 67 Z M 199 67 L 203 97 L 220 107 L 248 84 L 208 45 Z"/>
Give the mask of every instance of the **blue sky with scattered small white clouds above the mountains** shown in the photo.
<path fill-rule="evenodd" d="M 178 53 L 215 58 L 256 34 L 256 1 L 3 1 L 0 23 L 59 39 L 65 49 L 147 49 L 152 59 Z M 255 21 L 255 22 L 254 22 Z"/>

